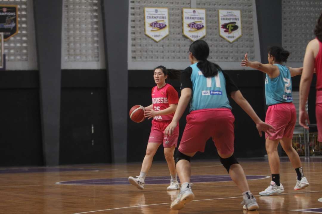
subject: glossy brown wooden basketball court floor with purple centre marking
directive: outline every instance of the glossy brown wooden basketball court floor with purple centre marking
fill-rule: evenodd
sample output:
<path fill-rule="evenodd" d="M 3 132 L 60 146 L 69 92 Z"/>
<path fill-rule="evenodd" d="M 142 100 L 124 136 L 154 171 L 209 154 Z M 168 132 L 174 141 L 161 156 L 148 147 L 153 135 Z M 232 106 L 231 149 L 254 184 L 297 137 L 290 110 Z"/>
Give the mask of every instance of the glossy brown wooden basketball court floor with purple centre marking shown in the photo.
<path fill-rule="evenodd" d="M 310 186 L 298 191 L 293 190 L 295 170 L 282 159 L 280 176 L 285 192 L 276 196 L 258 194 L 270 184 L 267 159 L 239 161 L 259 203 L 257 211 L 242 210 L 241 192 L 228 181 L 219 160 L 213 160 L 192 162 L 195 199 L 179 211 L 170 210 L 178 191 L 166 191 L 169 171 L 165 161 L 152 164 L 146 183 L 155 184 L 146 184 L 144 190 L 127 182 L 128 176 L 139 173 L 141 163 L 0 168 L 0 213 L 322 213 L 322 202 L 318 201 L 322 198 L 322 158 L 302 161 Z"/>

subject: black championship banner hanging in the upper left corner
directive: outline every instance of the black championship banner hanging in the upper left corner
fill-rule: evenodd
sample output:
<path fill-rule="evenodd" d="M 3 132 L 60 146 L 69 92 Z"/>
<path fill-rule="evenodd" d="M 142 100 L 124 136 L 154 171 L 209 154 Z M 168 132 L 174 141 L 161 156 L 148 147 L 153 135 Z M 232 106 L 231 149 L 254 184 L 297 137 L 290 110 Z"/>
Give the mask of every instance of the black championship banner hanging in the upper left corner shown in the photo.
<path fill-rule="evenodd" d="M 0 5 L 0 32 L 5 41 L 18 33 L 18 5 Z"/>

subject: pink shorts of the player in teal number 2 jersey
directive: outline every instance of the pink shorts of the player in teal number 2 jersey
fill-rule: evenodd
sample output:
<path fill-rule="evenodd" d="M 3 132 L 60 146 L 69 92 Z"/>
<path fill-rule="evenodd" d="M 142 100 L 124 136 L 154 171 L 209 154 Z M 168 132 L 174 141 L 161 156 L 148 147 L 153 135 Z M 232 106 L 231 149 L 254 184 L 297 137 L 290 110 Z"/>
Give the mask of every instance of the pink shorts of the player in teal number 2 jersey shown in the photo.
<path fill-rule="evenodd" d="M 279 103 L 270 105 L 266 112 L 265 122 L 273 126 L 276 131 L 265 132 L 265 139 L 276 140 L 293 138 L 296 123 L 296 110 L 293 103 Z"/>

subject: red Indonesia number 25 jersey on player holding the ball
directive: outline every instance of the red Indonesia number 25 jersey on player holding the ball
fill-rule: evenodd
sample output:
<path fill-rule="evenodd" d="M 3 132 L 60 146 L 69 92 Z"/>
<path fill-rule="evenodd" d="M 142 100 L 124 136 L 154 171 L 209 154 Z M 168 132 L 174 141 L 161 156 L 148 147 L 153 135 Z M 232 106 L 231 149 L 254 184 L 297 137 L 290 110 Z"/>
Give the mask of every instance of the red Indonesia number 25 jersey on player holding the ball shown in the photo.
<path fill-rule="evenodd" d="M 152 88 L 152 104 L 154 111 L 161 111 L 170 107 L 170 104 L 178 104 L 179 96 L 178 92 L 170 84 L 166 84 L 162 88 L 155 86 Z M 167 115 L 157 115 L 153 117 L 156 121 L 172 120 L 175 113 Z"/>

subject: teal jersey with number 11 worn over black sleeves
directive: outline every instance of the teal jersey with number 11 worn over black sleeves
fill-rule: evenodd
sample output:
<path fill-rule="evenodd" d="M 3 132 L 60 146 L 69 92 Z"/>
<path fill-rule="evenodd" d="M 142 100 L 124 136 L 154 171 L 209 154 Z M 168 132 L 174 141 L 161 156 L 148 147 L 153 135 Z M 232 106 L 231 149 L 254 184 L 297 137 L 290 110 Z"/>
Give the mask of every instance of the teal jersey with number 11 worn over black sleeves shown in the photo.
<path fill-rule="evenodd" d="M 226 80 L 223 72 L 213 77 L 205 77 L 197 63 L 190 66 L 192 68 L 192 98 L 190 101 L 190 111 L 201 109 L 229 108 L 226 93 Z"/>

